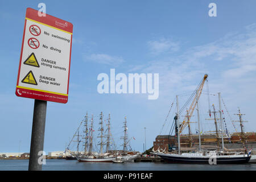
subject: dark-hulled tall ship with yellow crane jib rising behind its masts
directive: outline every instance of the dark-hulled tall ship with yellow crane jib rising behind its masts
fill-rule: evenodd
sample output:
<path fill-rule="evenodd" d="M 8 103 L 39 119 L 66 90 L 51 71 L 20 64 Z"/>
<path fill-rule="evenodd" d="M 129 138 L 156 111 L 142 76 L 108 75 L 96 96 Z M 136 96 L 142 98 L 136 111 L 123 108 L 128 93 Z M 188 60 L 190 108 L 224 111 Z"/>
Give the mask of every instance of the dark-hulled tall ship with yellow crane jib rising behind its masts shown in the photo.
<path fill-rule="evenodd" d="M 189 96 L 188 101 L 179 109 L 179 99 L 176 96 L 176 114 L 174 117 L 174 122 L 172 123 L 170 133 L 174 132 L 175 137 L 171 138 L 175 144 L 170 146 L 168 143 L 168 148 L 162 148 L 162 151 L 158 147 L 157 150 L 152 150 L 152 154 L 160 156 L 166 162 L 170 163 L 206 163 L 206 164 L 230 164 L 230 163 L 247 163 L 251 158 L 251 150 L 248 151 L 246 147 L 246 134 L 243 131 L 243 121 L 242 114 L 239 110 L 240 117 L 240 140 L 242 142 L 242 148 L 226 148 L 224 146 L 224 140 L 229 138 L 228 133 L 224 132 L 223 122 L 224 117 L 222 117 L 223 110 L 221 109 L 221 94 L 218 93 L 218 110 L 216 110 L 216 106 L 210 106 L 209 102 L 209 88 L 208 88 L 208 75 L 204 75 L 203 80 L 201 80 L 200 84 L 197 86 L 196 90 Z M 208 95 L 208 103 L 209 103 L 209 116 L 211 117 L 213 114 L 213 118 L 210 118 L 209 121 L 214 121 L 214 131 L 213 135 L 216 137 L 216 146 L 201 144 L 201 124 L 200 124 L 200 111 L 199 111 L 199 99 L 203 90 L 203 86 L 207 81 L 207 95 Z M 186 114 L 183 116 L 183 122 L 180 122 L 181 112 L 184 111 L 184 108 L 191 103 L 189 109 L 185 112 Z M 171 109 L 174 102 L 171 105 Z M 171 110 L 170 109 L 170 110 Z M 193 115 L 193 111 L 197 110 L 197 128 L 196 134 L 192 134 L 191 128 L 191 117 Z M 168 115 L 170 114 L 170 110 Z M 211 111 L 213 110 L 213 111 Z M 168 117 L 167 115 L 167 117 Z M 219 118 L 218 116 L 219 115 Z M 182 131 L 184 129 L 188 130 L 188 134 L 183 134 Z M 170 136 L 170 133 L 168 136 Z M 196 136 L 197 135 L 197 136 Z M 197 137 L 197 141 L 195 141 L 195 136 Z M 186 143 L 182 143 L 181 147 L 181 137 L 185 137 L 187 140 Z"/>

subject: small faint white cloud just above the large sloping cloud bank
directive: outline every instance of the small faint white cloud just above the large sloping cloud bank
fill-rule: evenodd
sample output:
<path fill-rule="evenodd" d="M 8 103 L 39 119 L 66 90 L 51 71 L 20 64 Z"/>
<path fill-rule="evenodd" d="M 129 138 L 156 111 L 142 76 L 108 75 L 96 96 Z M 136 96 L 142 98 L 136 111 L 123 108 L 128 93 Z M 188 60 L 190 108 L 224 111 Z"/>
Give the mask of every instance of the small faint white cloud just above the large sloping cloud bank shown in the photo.
<path fill-rule="evenodd" d="M 160 53 L 176 52 L 180 49 L 178 42 L 173 42 L 168 39 L 151 40 L 147 42 L 148 48 L 152 54 L 158 55 Z"/>

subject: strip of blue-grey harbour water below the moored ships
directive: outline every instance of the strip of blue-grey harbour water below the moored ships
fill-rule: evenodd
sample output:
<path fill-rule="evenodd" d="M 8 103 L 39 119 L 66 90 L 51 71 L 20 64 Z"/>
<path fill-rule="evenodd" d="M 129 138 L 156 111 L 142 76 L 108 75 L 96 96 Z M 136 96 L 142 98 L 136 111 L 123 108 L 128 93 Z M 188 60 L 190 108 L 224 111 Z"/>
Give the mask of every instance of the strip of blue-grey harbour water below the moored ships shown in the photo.
<path fill-rule="evenodd" d="M 27 171 L 28 160 L 0 160 L 0 171 Z M 167 163 L 79 163 L 77 160 L 47 159 L 43 171 L 256 171 L 256 164 L 167 164 Z"/>

